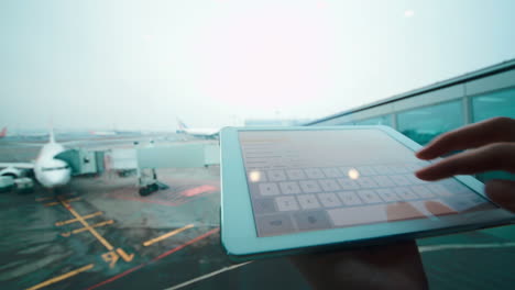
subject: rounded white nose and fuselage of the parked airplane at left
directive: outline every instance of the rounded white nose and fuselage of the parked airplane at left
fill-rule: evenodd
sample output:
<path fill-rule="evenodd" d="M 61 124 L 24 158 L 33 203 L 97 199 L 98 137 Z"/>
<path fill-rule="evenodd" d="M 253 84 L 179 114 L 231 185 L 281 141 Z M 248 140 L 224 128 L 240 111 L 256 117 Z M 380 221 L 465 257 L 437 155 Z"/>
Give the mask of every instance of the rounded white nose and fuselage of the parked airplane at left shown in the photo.
<path fill-rule="evenodd" d="M 66 150 L 63 145 L 54 142 L 45 144 L 34 161 L 36 180 L 46 188 L 61 187 L 68 183 L 72 178 L 69 165 L 54 157 Z"/>

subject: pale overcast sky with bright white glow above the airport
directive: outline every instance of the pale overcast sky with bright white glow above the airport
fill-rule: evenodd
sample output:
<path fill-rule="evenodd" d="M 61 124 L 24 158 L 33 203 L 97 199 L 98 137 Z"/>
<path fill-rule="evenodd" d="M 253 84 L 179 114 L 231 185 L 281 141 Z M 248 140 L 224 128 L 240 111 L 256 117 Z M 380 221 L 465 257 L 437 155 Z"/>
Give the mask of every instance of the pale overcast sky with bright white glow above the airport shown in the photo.
<path fill-rule="evenodd" d="M 0 1 L 0 127 L 322 118 L 515 57 L 515 1 Z"/>

